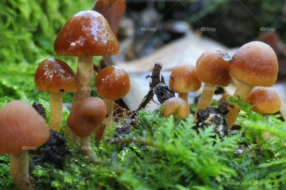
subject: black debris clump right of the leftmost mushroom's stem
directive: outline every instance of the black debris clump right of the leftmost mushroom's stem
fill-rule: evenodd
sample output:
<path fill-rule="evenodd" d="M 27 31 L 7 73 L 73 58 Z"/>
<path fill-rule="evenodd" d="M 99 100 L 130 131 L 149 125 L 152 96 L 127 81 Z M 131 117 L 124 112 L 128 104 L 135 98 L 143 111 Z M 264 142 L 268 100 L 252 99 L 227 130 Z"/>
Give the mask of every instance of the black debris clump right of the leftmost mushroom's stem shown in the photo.
<path fill-rule="evenodd" d="M 66 139 L 57 131 L 50 130 L 49 140 L 42 145 L 44 162 L 51 162 L 59 168 L 63 168 L 67 154 L 70 154 L 66 147 Z"/>

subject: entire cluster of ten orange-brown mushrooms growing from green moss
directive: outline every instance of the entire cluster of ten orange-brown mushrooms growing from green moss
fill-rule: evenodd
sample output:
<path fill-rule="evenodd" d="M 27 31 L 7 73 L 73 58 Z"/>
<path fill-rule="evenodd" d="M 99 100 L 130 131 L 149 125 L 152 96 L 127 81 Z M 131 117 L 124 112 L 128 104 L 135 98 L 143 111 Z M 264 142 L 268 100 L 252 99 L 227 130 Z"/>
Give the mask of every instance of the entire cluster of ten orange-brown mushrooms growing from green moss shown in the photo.
<path fill-rule="evenodd" d="M 14 100 L 0 110 L 0 154 L 10 154 L 10 169 L 13 181 L 21 190 L 32 190 L 29 176 L 28 150 L 23 147 L 38 147 L 49 139 L 49 129 L 59 131 L 62 122 L 62 93 L 74 93 L 66 129 L 80 139 L 83 155 L 91 156 L 91 133 L 102 123 L 111 129 L 114 100 L 128 94 L 128 74 L 118 66 L 102 69 L 95 79 L 97 94 L 90 97 L 93 73 L 93 56 L 110 56 L 119 53 L 119 45 L 107 20 L 96 11 L 81 11 L 73 15 L 63 26 L 54 44 L 58 56 L 78 56 L 77 75 L 64 61 L 48 58 L 36 70 L 35 85 L 49 93 L 50 120 L 45 120 L 27 103 Z M 205 109 L 212 101 L 216 87 L 237 81 L 239 95 L 253 105 L 253 111 L 261 114 L 276 113 L 281 106 L 277 93 L 268 88 L 274 84 L 278 62 L 272 48 L 263 42 L 250 42 L 231 58 L 222 49 L 205 51 L 196 63 L 180 64 L 170 75 L 170 88 L 178 98 L 166 100 L 164 117 L 175 115 L 179 119 L 190 114 L 188 93 L 205 84 L 197 110 Z M 178 109 L 179 108 L 179 109 Z M 239 107 L 229 107 L 229 129 L 239 114 Z M 15 118 L 15 115 L 17 117 Z M 196 115 L 196 114 L 195 114 Z M 196 117 L 195 117 L 196 121 Z M 13 139 L 13 141 L 11 141 Z"/>

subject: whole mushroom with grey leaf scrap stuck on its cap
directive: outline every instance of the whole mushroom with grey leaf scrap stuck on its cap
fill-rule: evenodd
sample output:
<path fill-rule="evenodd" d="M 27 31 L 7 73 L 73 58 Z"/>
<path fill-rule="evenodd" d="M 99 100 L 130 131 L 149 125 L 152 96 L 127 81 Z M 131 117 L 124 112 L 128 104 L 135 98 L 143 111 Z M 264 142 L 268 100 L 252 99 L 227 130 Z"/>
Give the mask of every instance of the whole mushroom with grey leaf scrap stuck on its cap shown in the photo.
<path fill-rule="evenodd" d="M 229 54 L 219 48 L 206 50 L 198 58 L 196 63 L 197 76 L 205 85 L 196 113 L 198 110 L 206 109 L 211 104 L 216 87 L 225 87 L 231 82 L 229 76 L 230 60 Z M 195 121 L 197 121 L 196 113 Z"/>

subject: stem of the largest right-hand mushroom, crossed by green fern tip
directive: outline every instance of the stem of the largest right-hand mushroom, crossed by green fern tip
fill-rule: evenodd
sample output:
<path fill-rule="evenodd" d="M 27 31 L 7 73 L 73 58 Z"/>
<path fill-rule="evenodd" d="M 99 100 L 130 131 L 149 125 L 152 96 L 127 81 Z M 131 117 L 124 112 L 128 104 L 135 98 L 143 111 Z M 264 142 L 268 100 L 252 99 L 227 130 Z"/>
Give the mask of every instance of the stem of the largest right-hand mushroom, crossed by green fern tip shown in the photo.
<path fill-rule="evenodd" d="M 253 89 L 253 86 L 249 86 L 244 83 L 238 82 L 237 89 L 235 90 L 232 97 L 237 99 L 236 96 L 239 95 L 243 99 L 243 101 L 245 101 L 247 99 L 248 94 L 250 93 L 252 89 Z M 226 115 L 229 130 L 233 126 L 234 122 L 236 121 L 238 114 L 239 114 L 238 105 L 234 105 L 234 108 L 229 107 L 229 113 Z"/>

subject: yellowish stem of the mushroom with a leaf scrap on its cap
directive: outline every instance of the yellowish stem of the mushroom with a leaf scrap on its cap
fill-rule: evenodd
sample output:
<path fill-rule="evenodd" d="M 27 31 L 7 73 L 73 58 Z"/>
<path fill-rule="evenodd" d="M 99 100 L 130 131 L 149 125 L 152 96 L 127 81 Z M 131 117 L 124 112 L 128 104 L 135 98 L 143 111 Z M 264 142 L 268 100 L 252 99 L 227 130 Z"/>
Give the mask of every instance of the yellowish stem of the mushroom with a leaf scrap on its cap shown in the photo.
<path fill-rule="evenodd" d="M 200 96 L 200 100 L 197 105 L 196 113 L 195 113 L 195 122 L 198 121 L 197 119 L 197 112 L 198 110 L 204 110 L 212 103 L 212 96 L 215 93 L 215 86 L 210 84 L 205 84 L 203 87 L 203 93 Z"/>

